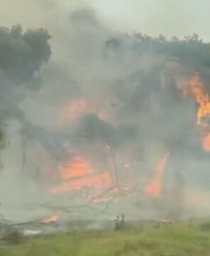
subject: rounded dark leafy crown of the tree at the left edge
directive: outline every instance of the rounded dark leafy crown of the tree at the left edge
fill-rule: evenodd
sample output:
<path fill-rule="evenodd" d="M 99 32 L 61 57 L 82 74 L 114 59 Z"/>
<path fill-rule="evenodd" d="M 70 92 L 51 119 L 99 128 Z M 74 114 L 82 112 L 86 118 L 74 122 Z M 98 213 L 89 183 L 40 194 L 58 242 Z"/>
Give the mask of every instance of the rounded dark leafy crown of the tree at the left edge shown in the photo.
<path fill-rule="evenodd" d="M 0 27 L 0 73 L 4 80 L 16 84 L 30 81 L 49 60 L 49 39 L 44 29 L 23 32 L 20 25 Z"/>

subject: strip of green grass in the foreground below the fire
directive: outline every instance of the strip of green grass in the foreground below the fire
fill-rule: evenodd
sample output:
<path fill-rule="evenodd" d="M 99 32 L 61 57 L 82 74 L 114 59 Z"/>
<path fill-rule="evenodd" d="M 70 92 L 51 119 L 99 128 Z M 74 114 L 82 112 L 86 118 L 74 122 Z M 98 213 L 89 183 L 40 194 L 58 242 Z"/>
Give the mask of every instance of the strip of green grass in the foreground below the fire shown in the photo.
<path fill-rule="evenodd" d="M 204 225 L 204 224 L 203 224 Z M 77 231 L 1 247 L 0 256 L 209 256 L 210 232 L 200 224 Z"/>

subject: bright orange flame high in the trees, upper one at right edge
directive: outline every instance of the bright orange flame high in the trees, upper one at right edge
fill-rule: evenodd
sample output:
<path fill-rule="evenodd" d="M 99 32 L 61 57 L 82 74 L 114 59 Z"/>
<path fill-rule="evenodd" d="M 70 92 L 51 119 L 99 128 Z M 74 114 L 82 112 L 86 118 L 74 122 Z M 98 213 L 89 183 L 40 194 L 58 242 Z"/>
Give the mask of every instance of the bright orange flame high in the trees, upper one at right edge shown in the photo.
<path fill-rule="evenodd" d="M 188 82 L 188 89 L 191 96 L 194 97 L 199 104 L 199 110 L 197 112 L 197 124 L 201 127 L 206 127 L 206 122 L 202 122 L 205 116 L 210 115 L 210 99 L 208 94 L 204 93 L 204 88 L 199 78 L 199 75 L 194 76 Z"/>

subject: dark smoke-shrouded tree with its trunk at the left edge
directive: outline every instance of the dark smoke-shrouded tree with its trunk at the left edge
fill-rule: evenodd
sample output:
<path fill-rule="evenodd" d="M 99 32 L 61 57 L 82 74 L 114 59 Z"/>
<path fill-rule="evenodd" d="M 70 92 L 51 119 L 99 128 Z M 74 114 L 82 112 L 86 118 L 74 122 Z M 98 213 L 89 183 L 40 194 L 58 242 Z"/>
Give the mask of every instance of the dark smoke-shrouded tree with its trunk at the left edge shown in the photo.
<path fill-rule="evenodd" d="M 30 127 L 26 126 L 28 122 L 19 107 L 19 101 L 24 99 L 24 91 L 17 93 L 16 87 L 40 86 L 34 80 L 39 81 L 39 71 L 51 55 L 49 39 L 49 33 L 44 29 L 24 32 L 21 25 L 10 29 L 0 27 L 0 150 L 6 146 L 6 131 L 2 123 L 16 119 L 23 129 Z"/>

